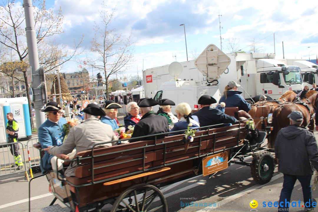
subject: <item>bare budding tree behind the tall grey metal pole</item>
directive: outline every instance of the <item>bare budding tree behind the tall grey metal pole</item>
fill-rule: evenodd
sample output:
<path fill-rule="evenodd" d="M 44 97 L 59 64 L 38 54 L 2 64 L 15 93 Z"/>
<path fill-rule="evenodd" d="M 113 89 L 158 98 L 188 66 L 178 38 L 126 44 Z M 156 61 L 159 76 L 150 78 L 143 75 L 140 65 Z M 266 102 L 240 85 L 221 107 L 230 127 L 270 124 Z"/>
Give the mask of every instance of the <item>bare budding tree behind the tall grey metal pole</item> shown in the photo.
<path fill-rule="evenodd" d="M 28 64 L 28 49 L 26 44 L 26 33 L 24 30 L 24 10 L 22 8 L 15 8 L 16 0 L 2 0 L 0 2 L 0 63 L 4 64 L 12 61 L 8 55 L 14 55 L 15 60 L 19 60 Z M 38 6 L 33 1 L 34 7 L 34 21 L 35 30 L 37 32 L 38 52 L 40 55 L 40 65 L 44 65 L 48 70 L 52 70 L 59 65 L 64 64 L 72 57 L 76 56 L 75 48 L 73 54 L 68 55 L 69 52 L 58 48 L 58 44 L 54 40 L 47 41 L 57 34 L 62 33 L 61 24 L 63 23 L 63 16 L 61 9 L 57 15 L 53 14 L 52 10 L 46 10 L 45 0 L 39 1 Z M 48 53 L 48 51 L 52 53 Z M 55 50 L 55 51 L 53 51 Z M 53 53 L 54 52 L 54 53 Z M 11 54 L 10 54 L 11 53 Z M 53 56 L 54 55 L 54 56 Z M 67 56 L 68 55 L 68 56 Z M 21 67 L 24 75 L 24 82 L 27 82 L 26 69 Z M 29 93 L 29 84 L 25 83 L 26 92 Z M 30 96 L 29 107 L 31 109 Z M 30 111 L 31 115 L 31 111 Z"/>

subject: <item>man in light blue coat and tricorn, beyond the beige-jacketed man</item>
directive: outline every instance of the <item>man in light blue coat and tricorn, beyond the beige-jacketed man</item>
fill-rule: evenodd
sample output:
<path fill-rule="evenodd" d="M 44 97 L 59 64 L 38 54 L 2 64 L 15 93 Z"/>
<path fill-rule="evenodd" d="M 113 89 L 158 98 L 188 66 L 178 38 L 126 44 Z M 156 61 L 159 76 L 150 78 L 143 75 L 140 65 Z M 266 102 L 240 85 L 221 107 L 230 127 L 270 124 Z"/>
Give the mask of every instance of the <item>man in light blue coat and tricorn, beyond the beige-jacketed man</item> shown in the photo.
<path fill-rule="evenodd" d="M 110 125 L 113 128 L 113 130 L 119 128 L 116 121 L 118 108 L 122 108 L 122 106 L 117 104 L 113 100 L 106 101 L 104 103 L 104 108 L 103 108 L 103 111 L 105 112 L 106 115 L 100 119 L 101 122 Z"/>

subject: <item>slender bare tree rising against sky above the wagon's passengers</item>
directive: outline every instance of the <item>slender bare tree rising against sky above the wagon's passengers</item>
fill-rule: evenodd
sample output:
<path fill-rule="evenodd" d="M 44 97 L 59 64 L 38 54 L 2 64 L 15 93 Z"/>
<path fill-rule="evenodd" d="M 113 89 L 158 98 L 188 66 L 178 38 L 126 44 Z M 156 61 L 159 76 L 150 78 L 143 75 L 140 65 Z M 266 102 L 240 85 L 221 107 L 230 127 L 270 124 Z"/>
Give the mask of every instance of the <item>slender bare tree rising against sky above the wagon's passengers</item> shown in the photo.
<path fill-rule="evenodd" d="M 90 50 L 97 54 L 92 65 L 95 69 L 104 73 L 106 92 L 108 93 L 108 81 L 115 73 L 124 73 L 133 62 L 132 33 L 128 38 L 122 39 L 111 23 L 115 20 L 113 10 L 110 14 L 106 10 L 105 2 L 102 3 L 102 10 L 99 11 L 101 23 L 94 25 L 95 37 L 91 41 Z M 108 99 L 108 95 L 107 95 Z"/>

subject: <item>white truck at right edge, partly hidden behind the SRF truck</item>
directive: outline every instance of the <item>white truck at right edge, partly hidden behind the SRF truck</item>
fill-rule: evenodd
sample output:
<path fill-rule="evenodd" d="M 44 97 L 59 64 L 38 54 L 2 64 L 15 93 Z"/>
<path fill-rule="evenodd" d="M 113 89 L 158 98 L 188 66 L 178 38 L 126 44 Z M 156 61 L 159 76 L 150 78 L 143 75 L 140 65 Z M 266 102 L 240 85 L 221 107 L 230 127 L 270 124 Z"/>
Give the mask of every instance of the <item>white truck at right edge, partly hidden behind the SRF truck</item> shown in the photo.
<path fill-rule="evenodd" d="M 312 85 L 318 84 L 318 65 L 309 62 L 305 59 L 280 59 L 287 65 L 297 65 L 300 67 L 301 77 L 304 86 L 307 85 L 309 89 Z"/>

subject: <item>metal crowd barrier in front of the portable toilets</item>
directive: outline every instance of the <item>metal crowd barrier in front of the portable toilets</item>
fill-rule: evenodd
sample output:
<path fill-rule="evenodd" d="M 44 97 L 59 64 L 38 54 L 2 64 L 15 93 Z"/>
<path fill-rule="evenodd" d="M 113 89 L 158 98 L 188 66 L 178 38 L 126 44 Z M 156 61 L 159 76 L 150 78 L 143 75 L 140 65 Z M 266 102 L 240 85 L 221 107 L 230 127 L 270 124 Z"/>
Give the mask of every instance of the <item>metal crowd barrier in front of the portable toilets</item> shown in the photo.
<path fill-rule="evenodd" d="M 28 179 L 29 173 L 32 177 L 33 175 L 32 172 L 30 172 L 30 168 L 40 166 L 40 153 L 38 149 L 33 148 L 33 144 L 37 142 L 38 138 L 36 137 L 28 141 L 18 141 L 14 143 L 18 145 L 19 153 L 22 157 L 23 168 L 20 170 L 17 170 L 17 166 L 14 166 L 14 156 L 10 152 L 10 146 L 12 146 L 12 144 L 0 144 L 0 176 L 24 172 Z"/>

